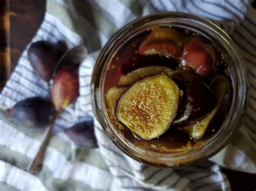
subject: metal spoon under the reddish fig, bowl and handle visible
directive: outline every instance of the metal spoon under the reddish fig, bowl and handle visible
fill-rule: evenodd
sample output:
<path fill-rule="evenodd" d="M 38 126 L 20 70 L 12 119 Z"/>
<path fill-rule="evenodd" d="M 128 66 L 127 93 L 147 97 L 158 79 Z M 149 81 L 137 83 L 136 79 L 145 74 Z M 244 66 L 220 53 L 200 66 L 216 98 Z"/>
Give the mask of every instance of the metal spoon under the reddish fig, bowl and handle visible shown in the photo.
<path fill-rule="evenodd" d="M 55 73 L 58 70 L 58 68 L 63 65 L 80 65 L 80 63 L 85 59 L 86 55 L 87 55 L 87 49 L 83 45 L 76 46 L 76 47 L 70 49 L 70 51 L 68 51 L 62 57 L 62 59 L 60 59 L 60 61 L 58 63 L 58 67 L 55 70 Z M 51 119 L 50 126 L 45 131 L 43 142 L 42 142 L 41 146 L 39 147 L 39 150 L 38 150 L 35 158 L 33 159 L 32 163 L 29 166 L 29 171 L 31 173 L 38 173 L 39 171 L 41 171 L 41 169 L 43 167 L 45 151 L 50 142 L 50 139 L 52 136 L 52 129 L 53 129 L 55 120 L 58 116 L 58 112 L 59 111 L 55 110 L 55 112 L 52 116 L 52 119 Z"/>

